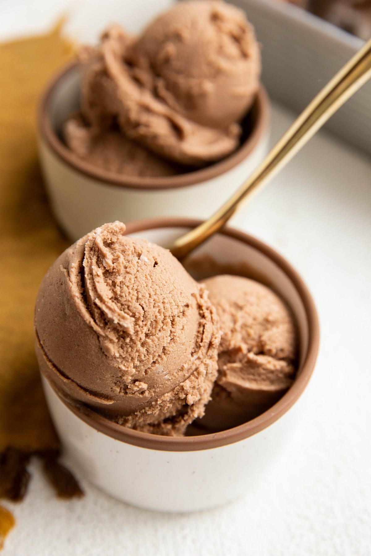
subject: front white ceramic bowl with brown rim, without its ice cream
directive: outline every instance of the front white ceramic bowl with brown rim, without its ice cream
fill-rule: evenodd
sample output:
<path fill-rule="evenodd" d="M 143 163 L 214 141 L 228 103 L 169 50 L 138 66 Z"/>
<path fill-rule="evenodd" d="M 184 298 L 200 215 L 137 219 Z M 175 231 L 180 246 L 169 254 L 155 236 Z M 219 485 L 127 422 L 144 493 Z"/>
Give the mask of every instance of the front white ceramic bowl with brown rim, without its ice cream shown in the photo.
<path fill-rule="evenodd" d="M 133 222 L 127 233 L 157 244 L 199 224 L 185 219 Z M 259 277 L 288 302 L 299 331 L 299 369 L 293 386 L 256 419 L 219 433 L 165 437 L 141 433 L 72 404 L 43 379 L 53 422 L 73 467 L 113 497 L 141 508 L 190 512 L 238 498 L 269 473 L 298 423 L 299 398 L 313 371 L 319 326 L 310 293 L 273 249 L 227 228 L 196 252 L 205 260 Z"/>

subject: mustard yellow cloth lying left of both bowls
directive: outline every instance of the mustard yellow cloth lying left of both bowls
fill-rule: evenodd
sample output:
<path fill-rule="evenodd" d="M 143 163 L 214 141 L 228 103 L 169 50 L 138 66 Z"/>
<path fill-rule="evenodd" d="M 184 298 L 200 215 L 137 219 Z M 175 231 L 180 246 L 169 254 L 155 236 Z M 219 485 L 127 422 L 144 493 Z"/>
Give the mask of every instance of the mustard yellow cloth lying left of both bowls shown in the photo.
<path fill-rule="evenodd" d="M 0 497 L 12 500 L 27 488 L 33 453 L 43 455 L 52 482 L 68 482 L 68 471 L 56 466 L 59 443 L 33 350 L 33 306 L 43 275 L 68 245 L 43 189 L 37 103 L 72 54 L 61 24 L 41 36 L 0 44 Z M 0 508 L 0 546 L 12 525 Z"/>

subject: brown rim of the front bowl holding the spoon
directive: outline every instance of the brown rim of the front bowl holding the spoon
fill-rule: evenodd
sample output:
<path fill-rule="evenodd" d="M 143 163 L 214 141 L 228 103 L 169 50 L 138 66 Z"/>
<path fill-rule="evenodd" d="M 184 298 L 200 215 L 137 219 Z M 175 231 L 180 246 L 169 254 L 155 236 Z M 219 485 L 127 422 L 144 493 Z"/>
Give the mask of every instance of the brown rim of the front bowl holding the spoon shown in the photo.
<path fill-rule="evenodd" d="M 151 219 L 140 220 L 132 222 L 127 225 L 126 233 L 133 234 L 135 232 L 155 230 L 158 228 L 169 227 L 195 227 L 201 224 L 201 220 L 191 219 Z M 80 403 L 71 403 L 70 400 L 65 399 L 57 390 L 58 398 L 72 411 L 78 418 L 90 425 L 93 429 L 100 433 L 111 436 L 116 440 L 140 446 L 141 448 L 165 450 L 165 451 L 192 451 L 192 450 L 207 450 L 210 448 L 217 448 L 217 446 L 224 446 L 233 444 L 239 440 L 253 436 L 273 424 L 282 415 L 288 411 L 299 396 L 303 393 L 305 386 L 308 384 L 311 374 L 313 373 L 315 361 L 318 354 L 319 347 L 319 322 L 318 315 L 315 309 L 314 301 L 310 292 L 298 272 L 274 249 L 265 245 L 262 241 L 253 236 L 245 234 L 245 232 L 226 227 L 219 233 L 233 237 L 245 244 L 251 245 L 256 250 L 268 256 L 269 259 L 283 270 L 286 276 L 289 277 L 296 291 L 298 292 L 301 301 L 303 302 L 305 314 L 308 319 L 308 351 L 305 356 L 303 368 L 298 378 L 295 379 L 294 384 L 284 394 L 284 396 L 273 405 L 268 411 L 265 411 L 255 419 L 244 423 L 243 425 L 236 426 L 231 429 L 223 430 L 219 433 L 210 433 L 200 436 L 160 436 L 150 433 L 142 433 L 137 430 L 128 429 L 123 425 L 113 423 L 109 419 L 96 413 L 92 409 L 87 408 Z M 48 384 L 50 384 L 48 382 Z"/>

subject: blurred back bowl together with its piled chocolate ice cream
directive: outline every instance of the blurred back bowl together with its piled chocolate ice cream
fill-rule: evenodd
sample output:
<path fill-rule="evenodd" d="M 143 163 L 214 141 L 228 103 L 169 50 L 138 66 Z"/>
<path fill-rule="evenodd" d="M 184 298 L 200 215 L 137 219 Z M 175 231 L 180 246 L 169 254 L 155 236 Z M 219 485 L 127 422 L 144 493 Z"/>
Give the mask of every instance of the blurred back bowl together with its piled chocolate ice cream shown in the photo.
<path fill-rule="evenodd" d="M 39 151 L 71 239 L 116 219 L 205 217 L 264 156 L 269 105 L 245 14 L 176 4 L 138 37 L 112 26 L 48 86 Z"/>

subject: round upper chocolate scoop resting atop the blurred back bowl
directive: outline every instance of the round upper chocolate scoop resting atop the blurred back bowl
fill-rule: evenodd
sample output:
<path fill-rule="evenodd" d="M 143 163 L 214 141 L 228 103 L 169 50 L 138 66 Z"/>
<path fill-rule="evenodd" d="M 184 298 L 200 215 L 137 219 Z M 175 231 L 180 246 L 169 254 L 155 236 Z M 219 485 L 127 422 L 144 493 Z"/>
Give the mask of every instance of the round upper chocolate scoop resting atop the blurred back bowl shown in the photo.
<path fill-rule="evenodd" d="M 131 44 L 128 59 L 152 73 L 151 89 L 177 113 L 220 130 L 245 116 L 259 87 L 254 29 L 225 2 L 177 3 Z"/>

